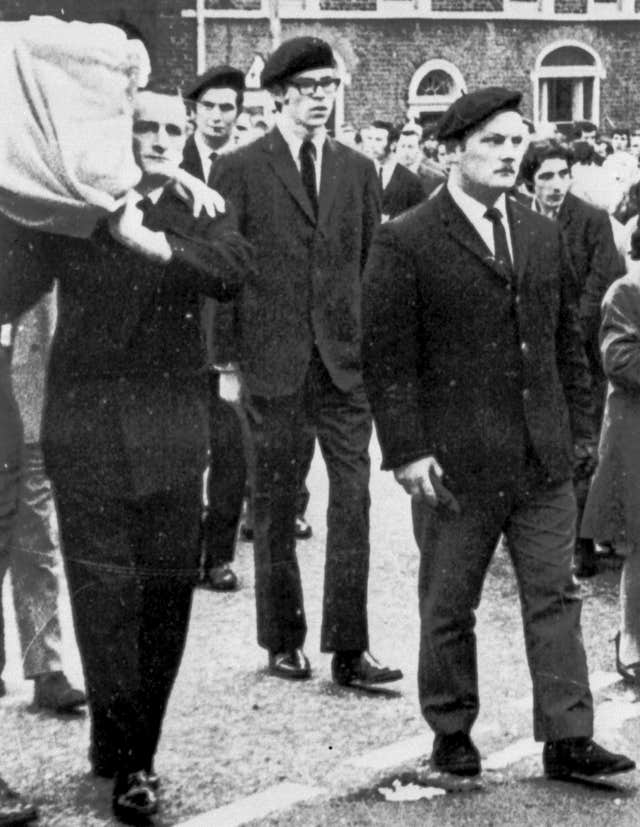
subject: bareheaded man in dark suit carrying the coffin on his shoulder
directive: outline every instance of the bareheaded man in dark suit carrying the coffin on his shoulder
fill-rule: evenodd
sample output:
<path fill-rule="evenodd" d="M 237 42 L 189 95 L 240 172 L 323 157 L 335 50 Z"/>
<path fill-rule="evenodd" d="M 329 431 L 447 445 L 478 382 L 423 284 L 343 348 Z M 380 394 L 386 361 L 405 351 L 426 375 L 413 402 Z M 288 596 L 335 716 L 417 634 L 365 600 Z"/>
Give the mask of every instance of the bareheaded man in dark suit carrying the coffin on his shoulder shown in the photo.
<path fill-rule="evenodd" d="M 138 190 L 89 239 L 32 234 L 12 253 L 11 306 L 59 282 L 43 447 L 91 711 L 90 759 L 113 808 L 157 809 L 153 759 L 198 570 L 206 462 L 201 296 L 230 299 L 250 259 L 231 214 L 194 218 L 168 181 L 186 113 L 141 92 Z M 204 189 L 204 187 L 203 187 Z M 3 296 L 0 294 L 0 304 Z"/>

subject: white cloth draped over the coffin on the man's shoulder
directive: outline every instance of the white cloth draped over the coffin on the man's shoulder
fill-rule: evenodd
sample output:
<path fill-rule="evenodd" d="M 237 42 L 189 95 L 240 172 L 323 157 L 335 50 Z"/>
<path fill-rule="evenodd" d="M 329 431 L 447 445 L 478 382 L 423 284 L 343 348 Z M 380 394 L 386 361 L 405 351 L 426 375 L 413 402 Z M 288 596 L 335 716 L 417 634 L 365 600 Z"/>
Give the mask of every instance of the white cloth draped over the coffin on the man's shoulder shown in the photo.
<path fill-rule="evenodd" d="M 0 23 L 0 211 L 90 235 L 140 178 L 133 95 L 148 56 L 105 24 Z"/>

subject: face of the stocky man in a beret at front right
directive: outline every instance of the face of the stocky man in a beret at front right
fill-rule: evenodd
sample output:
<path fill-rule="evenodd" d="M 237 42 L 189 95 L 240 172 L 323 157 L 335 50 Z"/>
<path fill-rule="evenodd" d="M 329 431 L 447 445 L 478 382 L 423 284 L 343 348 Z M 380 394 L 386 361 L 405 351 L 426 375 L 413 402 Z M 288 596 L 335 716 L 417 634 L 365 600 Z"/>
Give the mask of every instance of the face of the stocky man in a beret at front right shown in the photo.
<path fill-rule="evenodd" d="M 497 197 L 515 185 L 527 130 L 517 112 L 498 112 L 456 147 L 460 183 L 471 195 Z M 480 200 L 484 200 L 481 198 Z"/>

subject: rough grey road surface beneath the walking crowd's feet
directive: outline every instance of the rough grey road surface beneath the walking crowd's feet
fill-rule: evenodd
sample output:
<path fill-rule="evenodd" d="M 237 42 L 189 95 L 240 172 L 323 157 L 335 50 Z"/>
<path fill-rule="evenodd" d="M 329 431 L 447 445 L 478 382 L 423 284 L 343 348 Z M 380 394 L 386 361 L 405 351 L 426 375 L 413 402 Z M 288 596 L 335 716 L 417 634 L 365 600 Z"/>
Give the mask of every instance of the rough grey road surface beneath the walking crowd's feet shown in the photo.
<path fill-rule="evenodd" d="M 345 768 L 350 756 L 420 734 L 425 734 L 427 748 L 429 741 L 418 708 L 415 679 L 418 558 L 410 528 L 409 501 L 390 475 L 377 470 L 378 464 L 374 444 L 371 648 L 380 659 L 401 666 L 405 679 L 377 694 L 335 687 L 330 681 L 330 658 L 318 652 L 326 477 L 322 461 L 316 456 L 308 511 L 314 537 L 299 544 L 309 621 L 306 651 L 314 668 L 313 679 L 293 684 L 266 673 L 266 653 L 255 644 L 252 548 L 239 544 L 236 569 L 243 581 L 241 591 L 226 595 L 196 592 L 187 650 L 156 762 L 162 779 L 163 816 L 157 822 L 160 827 L 177 824 L 284 780 L 335 791 L 354 790 L 363 779 L 362 771 Z M 592 671 L 612 668 L 610 639 L 616 622 L 616 579 L 617 575 L 610 573 L 585 586 L 584 631 Z M 68 672 L 79 678 L 66 610 L 63 621 Z M 487 733 L 481 743 L 486 754 L 499 743 L 504 745 L 505 737 L 530 735 L 530 713 L 510 703 L 527 696 L 530 682 L 517 592 L 504 552 L 497 554 L 487 579 L 478 615 L 478 634 L 484 703 L 477 729 Z M 87 774 L 86 718 L 60 719 L 29 709 L 30 685 L 20 679 L 15 630 L 11 625 L 8 638 L 9 695 L 0 702 L 3 775 L 35 799 L 43 825 L 97 827 L 112 823 L 110 785 Z M 488 819 L 494 794 L 497 793 L 484 792 L 478 799 L 484 802 L 483 812 L 486 809 Z M 532 799 L 536 795 L 532 793 Z M 336 802 L 314 810 L 298 808 L 285 820 L 278 817 L 264 823 L 401 823 L 411 827 L 425 817 L 424 807 L 419 804 L 402 805 L 402 821 L 388 820 L 391 816 L 386 813 L 393 806 L 397 814 L 398 805 L 368 800 L 365 796 L 365 800 Z M 455 815 L 457 805 L 447 806 L 453 808 Z M 353 820 L 343 820 L 351 818 L 347 811 L 352 811 Z M 544 818 L 541 816 L 537 823 L 551 823 Z M 442 823 L 453 824 L 455 820 Z M 508 822 L 498 819 L 477 823 Z"/>

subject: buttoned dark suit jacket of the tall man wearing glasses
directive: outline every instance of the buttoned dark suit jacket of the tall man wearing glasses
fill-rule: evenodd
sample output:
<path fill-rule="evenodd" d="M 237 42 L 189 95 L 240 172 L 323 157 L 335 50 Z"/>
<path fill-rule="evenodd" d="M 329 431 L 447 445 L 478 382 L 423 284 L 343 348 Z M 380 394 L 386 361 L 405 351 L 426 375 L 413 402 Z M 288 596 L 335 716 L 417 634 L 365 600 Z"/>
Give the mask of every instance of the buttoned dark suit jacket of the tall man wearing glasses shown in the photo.
<path fill-rule="evenodd" d="M 314 343 L 336 386 L 354 388 L 362 381 L 361 274 L 380 219 L 373 163 L 327 139 L 317 220 L 277 128 L 220 157 L 213 184 L 236 208 L 257 262 L 238 302 L 235 344 L 250 392 L 295 392 Z"/>

